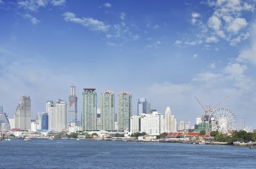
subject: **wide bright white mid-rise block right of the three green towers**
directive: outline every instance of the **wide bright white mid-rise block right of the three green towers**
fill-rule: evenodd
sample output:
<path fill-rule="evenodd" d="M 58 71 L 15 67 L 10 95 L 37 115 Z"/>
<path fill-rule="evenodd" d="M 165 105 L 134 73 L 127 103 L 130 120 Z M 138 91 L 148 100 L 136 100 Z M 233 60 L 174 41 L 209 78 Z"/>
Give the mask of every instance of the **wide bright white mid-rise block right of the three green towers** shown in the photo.
<path fill-rule="evenodd" d="M 142 114 L 140 119 L 140 131 L 148 135 L 160 135 L 163 133 L 163 115 L 158 112 Z"/>

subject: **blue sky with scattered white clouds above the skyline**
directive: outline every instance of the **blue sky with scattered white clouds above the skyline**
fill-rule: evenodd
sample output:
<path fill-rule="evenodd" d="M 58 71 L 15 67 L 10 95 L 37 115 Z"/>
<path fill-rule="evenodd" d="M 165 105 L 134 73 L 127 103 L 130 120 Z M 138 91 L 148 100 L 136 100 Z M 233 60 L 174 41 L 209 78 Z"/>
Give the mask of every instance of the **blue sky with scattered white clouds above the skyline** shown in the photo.
<path fill-rule="evenodd" d="M 83 88 L 146 98 L 178 121 L 228 108 L 256 127 L 256 0 L 0 0 L 0 105 L 13 117 L 31 97 L 32 118 L 47 100 Z"/>

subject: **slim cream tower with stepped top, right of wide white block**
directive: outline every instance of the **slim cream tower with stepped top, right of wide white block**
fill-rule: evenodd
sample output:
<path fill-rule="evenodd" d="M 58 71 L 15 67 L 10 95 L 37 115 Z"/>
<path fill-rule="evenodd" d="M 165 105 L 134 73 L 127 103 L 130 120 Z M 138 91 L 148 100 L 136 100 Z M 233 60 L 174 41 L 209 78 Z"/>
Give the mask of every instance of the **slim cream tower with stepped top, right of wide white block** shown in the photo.
<path fill-rule="evenodd" d="M 166 132 L 177 132 L 177 119 L 172 115 L 170 107 L 166 108 L 164 124 Z"/>

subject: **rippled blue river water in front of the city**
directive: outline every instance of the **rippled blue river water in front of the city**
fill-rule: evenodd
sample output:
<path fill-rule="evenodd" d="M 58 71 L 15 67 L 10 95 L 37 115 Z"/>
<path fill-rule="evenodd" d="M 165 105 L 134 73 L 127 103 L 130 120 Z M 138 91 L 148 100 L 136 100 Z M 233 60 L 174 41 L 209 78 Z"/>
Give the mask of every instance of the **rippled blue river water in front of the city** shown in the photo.
<path fill-rule="evenodd" d="M 62 141 L 62 143 L 57 143 Z M 256 168 L 256 149 L 81 140 L 0 141 L 0 169 Z"/>

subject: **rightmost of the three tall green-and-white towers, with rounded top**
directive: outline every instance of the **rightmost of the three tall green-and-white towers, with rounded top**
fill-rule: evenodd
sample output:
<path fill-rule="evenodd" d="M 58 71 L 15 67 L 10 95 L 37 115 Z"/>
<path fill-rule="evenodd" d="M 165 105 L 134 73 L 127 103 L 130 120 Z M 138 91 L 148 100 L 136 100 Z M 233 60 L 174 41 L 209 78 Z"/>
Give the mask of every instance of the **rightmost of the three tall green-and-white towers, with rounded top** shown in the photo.
<path fill-rule="evenodd" d="M 129 120 L 132 115 L 132 106 L 131 106 L 131 93 L 128 91 L 122 91 L 118 95 L 118 112 L 117 112 L 117 120 L 118 120 L 118 129 L 119 131 L 122 130 L 129 130 Z"/>

